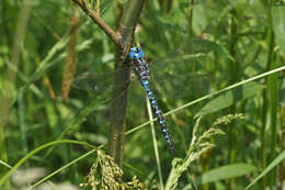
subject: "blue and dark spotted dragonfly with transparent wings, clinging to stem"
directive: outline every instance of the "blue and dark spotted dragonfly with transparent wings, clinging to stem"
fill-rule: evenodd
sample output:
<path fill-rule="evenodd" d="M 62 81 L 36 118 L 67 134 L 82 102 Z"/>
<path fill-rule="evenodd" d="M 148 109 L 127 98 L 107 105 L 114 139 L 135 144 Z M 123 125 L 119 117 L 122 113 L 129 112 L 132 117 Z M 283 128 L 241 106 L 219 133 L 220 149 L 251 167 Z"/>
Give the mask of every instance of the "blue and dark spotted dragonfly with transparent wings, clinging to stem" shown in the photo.
<path fill-rule="evenodd" d="M 160 96 L 162 99 L 166 99 L 167 97 L 171 100 L 181 101 L 182 98 L 191 97 L 193 93 L 205 92 L 208 89 L 208 77 L 197 75 L 197 72 L 202 67 L 205 68 L 203 63 L 207 58 L 208 53 L 215 49 L 213 46 L 215 46 L 215 44 L 206 40 L 191 40 L 173 53 L 168 54 L 167 57 L 155 59 L 149 64 L 145 60 L 141 48 L 133 47 L 129 51 L 129 58 L 133 60 L 133 64 L 129 66 L 132 66 L 135 71 L 140 88 L 141 86 L 144 87 L 144 90 L 150 100 L 152 111 L 157 115 L 171 153 L 174 153 L 174 144 L 155 96 L 163 93 L 163 96 Z M 123 70 L 116 70 L 116 72 L 123 72 Z M 73 87 L 94 91 L 93 93 L 98 93 L 99 97 L 101 96 L 101 98 L 103 98 L 102 100 L 111 102 L 112 99 L 107 100 L 105 96 L 102 94 L 104 93 L 111 97 L 111 91 L 114 90 L 115 86 L 115 75 L 116 74 L 114 72 L 96 75 L 95 71 L 89 71 L 76 78 Z M 129 77 L 129 80 L 132 78 L 133 77 Z M 134 82 L 132 81 L 132 85 L 133 83 Z M 123 93 L 124 90 L 119 92 L 117 97 Z M 101 111 L 99 114 L 105 116 L 107 115 L 106 110 L 110 109 L 112 109 L 112 107 L 106 107 L 103 109 L 104 111 Z"/>

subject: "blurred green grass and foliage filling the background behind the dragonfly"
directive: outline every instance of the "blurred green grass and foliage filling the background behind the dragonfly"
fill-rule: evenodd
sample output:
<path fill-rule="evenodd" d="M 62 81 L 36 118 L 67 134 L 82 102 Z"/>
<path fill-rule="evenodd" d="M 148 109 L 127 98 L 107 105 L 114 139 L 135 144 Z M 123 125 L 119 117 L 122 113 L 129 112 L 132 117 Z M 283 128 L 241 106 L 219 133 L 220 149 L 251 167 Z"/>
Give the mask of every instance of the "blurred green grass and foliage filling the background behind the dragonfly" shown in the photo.
<path fill-rule="evenodd" d="M 87 1 L 90 2 L 90 8 L 100 9 L 101 16 L 113 29 L 116 25 L 116 13 L 122 9 L 119 4 L 126 4 L 126 0 Z M 173 182 L 176 189 L 184 190 L 195 189 L 195 186 L 198 189 L 202 189 L 200 186 L 204 189 L 229 189 L 228 174 L 224 172 L 230 169 L 230 177 L 236 179 L 235 189 L 242 189 L 264 169 L 262 150 L 267 158 L 266 166 L 281 155 L 285 145 L 284 70 L 274 74 L 274 80 L 265 82 L 262 78 L 214 96 L 213 99 L 194 101 L 232 85 L 233 78 L 236 81 L 242 81 L 269 71 L 272 68 L 267 65 L 270 55 L 275 64 L 274 68 L 284 67 L 283 3 L 284 1 L 269 4 L 267 1 L 196 0 L 191 7 L 187 0 L 146 2 L 136 29 L 135 42 L 144 48 L 150 63 L 152 88 L 161 110 L 169 112 L 166 121 L 175 144 L 175 157 L 180 160 L 174 159 L 175 166 L 171 165 L 173 157 L 168 153 L 167 143 L 159 133 L 157 143 L 162 179 L 167 181 L 170 174 L 178 174 L 179 169 L 173 171 L 173 168 L 179 164 L 182 166 L 181 159 L 189 158 L 189 145 L 193 142 L 193 127 L 197 116 L 204 115 L 198 130 L 208 131 L 210 127 L 205 126 L 213 126 L 220 116 L 231 113 L 231 107 L 244 115 L 244 120 L 238 120 L 223 128 L 227 132 L 235 127 L 235 136 L 228 135 L 215 141 L 215 148 L 200 154 L 194 165 L 186 161 L 187 165 L 180 168 L 180 180 L 168 181 L 169 186 Z M 232 14 L 232 10 L 236 10 L 236 14 Z M 78 20 L 72 33 L 75 11 Z M 2 0 L 0 14 L 0 179 L 9 171 L 10 166 L 13 167 L 31 150 L 56 139 L 82 141 L 96 147 L 106 145 L 110 122 L 107 116 L 112 109 L 112 90 L 115 87 L 112 78 L 113 42 L 80 8 L 68 0 Z M 272 22 L 269 21 L 269 15 Z M 232 21 L 237 23 L 235 36 Z M 271 38 L 274 47 L 272 52 L 269 45 L 269 29 L 272 29 L 275 37 Z M 75 43 L 70 42 L 71 34 L 76 35 Z M 231 52 L 232 44 L 236 54 Z M 233 72 L 230 71 L 232 62 L 238 65 Z M 70 68 L 75 70 L 65 74 L 65 70 L 68 70 L 67 63 L 73 64 Z M 69 91 L 67 86 L 72 78 L 78 79 L 87 71 L 88 75 L 96 76 L 91 82 L 95 86 L 101 82 L 102 90 L 89 91 L 71 86 Z M 71 77 L 65 79 L 66 75 Z M 149 119 L 145 93 L 136 80 L 132 81 L 129 89 L 126 127 L 127 131 L 135 130 L 127 133 L 125 141 L 125 164 L 122 168 L 124 177 L 122 177 L 123 180 L 118 180 L 121 182 L 133 181 L 141 186 L 144 183 L 149 189 L 159 189 L 163 183 L 158 181 L 151 132 L 149 125 L 145 124 Z M 273 89 L 276 93 L 270 93 L 271 96 L 264 99 L 264 93 L 269 93 L 267 89 Z M 118 96 L 124 93 L 125 91 Z M 190 107 L 175 110 L 192 101 Z M 274 105 L 272 101 L 275 101 L 276 107 L 269 109 Z M 273 109 L 276 110 L 276 118 L 269 119 Z M 261 130 L 264 115 L 266 120 L 275 120 L 277 128 L 271 134 L 272 126 L 266 125 L 266 138 Z M 155 124 L 160 132 L 158 123 Z M 277 136 L 274 139 L 276 144 L 271 142 L 274 135 Z M 212 147 L 213 136 L 209 135 L 207 139 Z M 235 147 L 228 146 L 229 139 L 236 141 Z M 263 141 L 266 142 L 265 146 Z M 203 145 L 205 144 L 197 147 Z M 237 165 L 229 161 L 230 148 L 236 150 Z M 202 150 L 203 147 L 197 149 L 198 153 Z M 48 147 L 45 152 L 32 155 L 22 168 L 41 167 L 52 172 L 77 159 L 84 152 L 84 147 L 75 144 Z M 104 156 L 104 159 L 112 164 L 112 159 Z M 60 172 L 49 180 L 70 181 L 79 187 L 90 168 L 94 171 L 94 165 L 99 164 L 98 160 L 103 160 L 102 158 L 84 157 L 72 167 L 60 169 Z M 274 166 L 278 169 L 274 170 L 275 181 L 278 182 L 271 183 L 269 180 L 263 181 L 263 185 L 282 186 L 282 181 L 284 183 L 284 160 L 278 160 Z M 100 166 L 99 171 L 104 167 Z M 240 172 L 240 168 L 244 168 L 244 172 Z M 215 176 L 219 172 L 224 175 Z M 92 175 L 102 177 L 94 172 Z M 98 179 L 102 178 L 96 178 L 96 182 Z M 100 182 L 102 185 L 104 181 Z M 3 188 L 12 189 L 14 183 L 8 182 Z M 190 186 L 191 183 L 193 186 Z M 122 182 L 123 185 L 127 186 Z M 261 183 L 255 185 L 255 189 L 262 187 Z"/>

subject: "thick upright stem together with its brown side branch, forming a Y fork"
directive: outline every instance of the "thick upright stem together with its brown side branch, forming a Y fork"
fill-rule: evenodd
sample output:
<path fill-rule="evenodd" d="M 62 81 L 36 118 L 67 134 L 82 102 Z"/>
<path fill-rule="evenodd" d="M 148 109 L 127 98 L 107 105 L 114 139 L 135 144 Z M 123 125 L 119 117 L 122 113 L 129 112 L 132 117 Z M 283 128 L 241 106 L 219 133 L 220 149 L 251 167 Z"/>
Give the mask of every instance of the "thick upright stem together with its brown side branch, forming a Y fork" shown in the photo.
<path fill-rule="evenodd" d="M 133 43 L 133 35 L 137 25 L 140 12 L 145 0 L 128 0 L 122 20 L 118 24 L 118 32 L 115 32 L 109 26 L 104 20 L 100 16 L 96 10 L 92 10 L 88 7 L 84 0 L 72 0 L 76 2 L 93 21 L 99 25 L 105 34 L 115 44 L 115 69 L 122 68 L 126 59 L 127 52 Z M 98 1 L 99 4 L 99 1 Z M 115 98 L 119 91 L 126 88 L 129 79 L 129 70 L 117 74 L 114 77 L 114 90 L 113 97 Z M 126 105 L 127 105 L 127 91 L 119 98 L 116 98 L 112 102 L 111 112 L 111 130 L 110 130 L 110 155 L 118 164 L 119 167 L 123 165 L 123 152 L 124 152 L 124 139 L 125 139 L 125 118 L 126 118 Z"/>

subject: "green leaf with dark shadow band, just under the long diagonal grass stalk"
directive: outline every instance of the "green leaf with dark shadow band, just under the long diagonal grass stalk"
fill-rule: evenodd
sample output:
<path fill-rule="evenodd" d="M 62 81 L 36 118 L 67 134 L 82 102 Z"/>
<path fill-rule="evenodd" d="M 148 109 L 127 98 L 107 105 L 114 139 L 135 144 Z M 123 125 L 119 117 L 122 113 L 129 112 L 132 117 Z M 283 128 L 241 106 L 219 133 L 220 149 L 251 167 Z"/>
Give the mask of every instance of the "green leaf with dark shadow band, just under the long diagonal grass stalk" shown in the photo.
<path fill-rule="evenodd" d="M 221 96 L 215 98 L 214 100 L 212 100 L 210 102 L 208 102 L 195 115 L 195 118 L 228 108 L 228 107 L 232 105 L 233 103 L 237 103 L 238 101 L 244 100 L 249 97 L 254 96 L 258 92 L 261 92 L 262 89 L 263 89 L 263 86 L 259 85 L 256 82 L 249 82 L 242 87 L 232 89 L 232 90 L 228 91 L 227 93 L 221 94 Z"/>

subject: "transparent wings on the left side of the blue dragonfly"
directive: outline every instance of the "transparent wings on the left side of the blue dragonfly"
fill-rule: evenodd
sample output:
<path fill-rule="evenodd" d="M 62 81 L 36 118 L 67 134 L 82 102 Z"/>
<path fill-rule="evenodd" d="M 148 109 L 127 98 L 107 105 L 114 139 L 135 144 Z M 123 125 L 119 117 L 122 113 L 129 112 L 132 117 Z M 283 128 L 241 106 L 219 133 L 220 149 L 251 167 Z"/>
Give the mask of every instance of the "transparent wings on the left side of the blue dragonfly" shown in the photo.
<path fill-rule="evenodd" d="M 126 68 L 104 75 L 84 72 L 73 80 L 72 88 L 80 89 L 76 90 L 76 92 L 79 91 L 78 96 L 84 100 L 98 100 L 96 108 L 92 114 L 92 121 L 99 126 L 105 126 L 111 121 L 114 122 L 114 120 L 121 118 L 117 114 L 125 113 L 124 105 L 126 105 L 130 80 L 129 69 Z M 137 82 L 132 81 L 132 83 Z M 89 93 L 87 94 L 86 92 Z"/>

